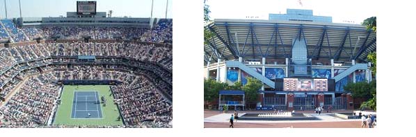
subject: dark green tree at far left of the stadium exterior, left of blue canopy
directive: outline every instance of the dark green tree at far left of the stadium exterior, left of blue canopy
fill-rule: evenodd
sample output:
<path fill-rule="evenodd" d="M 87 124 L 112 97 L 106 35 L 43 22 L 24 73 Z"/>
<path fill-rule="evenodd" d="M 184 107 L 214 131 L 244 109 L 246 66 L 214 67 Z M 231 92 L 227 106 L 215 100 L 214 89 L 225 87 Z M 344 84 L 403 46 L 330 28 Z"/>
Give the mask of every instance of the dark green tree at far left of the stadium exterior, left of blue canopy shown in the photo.
<path fill-rule="evenodd" d="M 216 80 L 204 80 L 204 100 L 213 101 L 219 98 L 218 92 L 227 87 L 226 83 L 216 82 Z"/>

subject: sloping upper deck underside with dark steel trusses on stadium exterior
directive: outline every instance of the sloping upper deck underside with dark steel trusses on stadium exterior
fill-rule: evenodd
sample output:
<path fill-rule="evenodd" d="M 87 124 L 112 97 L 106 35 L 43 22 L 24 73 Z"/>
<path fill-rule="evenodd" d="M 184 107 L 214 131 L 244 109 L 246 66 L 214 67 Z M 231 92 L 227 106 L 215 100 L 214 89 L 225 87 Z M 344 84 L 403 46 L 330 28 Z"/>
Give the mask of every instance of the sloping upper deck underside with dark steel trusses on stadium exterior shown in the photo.
<path fill-rule="evenodd" d="M 309 16 L 304 18 L 315 17 Z M 214 37 L 205 39 L 205 63 L 219 56 L 223 60 L 242 57 L 250 61 L 290 58 L 292 40 L 296 38 L 306 39 L 307 58 L 312 60 L 365 61 L 367 54 L 376 50 L 376 34 L 365 26 L 289 20 L 214 19 L 207 27 Z"/>

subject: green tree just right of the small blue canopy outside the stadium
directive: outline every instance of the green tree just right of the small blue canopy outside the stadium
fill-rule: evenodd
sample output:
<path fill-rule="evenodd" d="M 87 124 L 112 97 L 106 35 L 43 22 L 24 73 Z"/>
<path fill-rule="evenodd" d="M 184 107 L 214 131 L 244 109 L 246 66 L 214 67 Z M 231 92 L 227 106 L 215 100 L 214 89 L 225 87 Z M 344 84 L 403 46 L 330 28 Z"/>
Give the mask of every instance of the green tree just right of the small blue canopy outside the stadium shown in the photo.
<path fill-rule="evenodd" d="M 257 101 L 257 91 L 262 88 L 263 83 L 253 77 L 247 77 L 247 84 L 243 86 L 243 91 L 246 92 L 247 101 Z"/>

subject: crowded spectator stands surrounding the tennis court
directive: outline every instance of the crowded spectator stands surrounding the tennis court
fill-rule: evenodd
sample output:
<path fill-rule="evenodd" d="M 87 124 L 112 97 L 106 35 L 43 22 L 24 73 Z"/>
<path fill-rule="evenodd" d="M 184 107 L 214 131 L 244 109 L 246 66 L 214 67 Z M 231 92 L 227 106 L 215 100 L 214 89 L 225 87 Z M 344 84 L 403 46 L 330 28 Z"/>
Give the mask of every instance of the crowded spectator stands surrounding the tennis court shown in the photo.
<path fill-rule="evenodd" d="M 47 42 L 0 46 L 0 127 L 70 127 L 47 125 L 61 89 L 59 80 L 117 80 L 111 86 L 125 120 L 122 127 L 172 127 L 172 22 L 152 29 L 121 27 L 17 28 L 0 21 L 0 40 L 142 39 L 143 42 Z M 10 35 L 10 36 L 9 36 Z M 27 36 L 27 37 L 26 37 Z M 162 44 L 163 42 L 163 44 Z M 80 62 L 93 55 L 94 62 Z M 93 127 L 93 126 L 82 126 Z M 119 127 L 119 126 L 104 126 Z"/>

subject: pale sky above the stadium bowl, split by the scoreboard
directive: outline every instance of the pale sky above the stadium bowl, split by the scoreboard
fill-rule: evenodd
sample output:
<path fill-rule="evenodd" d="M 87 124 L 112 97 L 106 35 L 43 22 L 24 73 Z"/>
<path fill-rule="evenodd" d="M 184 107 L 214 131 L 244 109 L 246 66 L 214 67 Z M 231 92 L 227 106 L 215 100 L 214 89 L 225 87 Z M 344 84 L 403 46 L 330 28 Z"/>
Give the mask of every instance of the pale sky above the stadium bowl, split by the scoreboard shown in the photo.
<path fill-rule="evenodd" d="M 81 0 L 78 0 L 81 1 Z M 97 12 L 113 10 L 113 17 L 150 17 L 152 0 L 95 0 Z M 22 17 L 58 17 L 77 10 L 77 0 L 21 0 Z M 172 2 L 168 0 L 168 18 L 172 18 Z M 19 0 L 6 0 L 8 18 L 19 17 Z M 154 0 L 153 17 L 164 18 L 166 0 Z M 0 17 L 6 17 L 4 0 L 0 0 Z"/>

